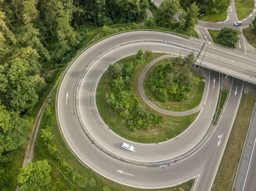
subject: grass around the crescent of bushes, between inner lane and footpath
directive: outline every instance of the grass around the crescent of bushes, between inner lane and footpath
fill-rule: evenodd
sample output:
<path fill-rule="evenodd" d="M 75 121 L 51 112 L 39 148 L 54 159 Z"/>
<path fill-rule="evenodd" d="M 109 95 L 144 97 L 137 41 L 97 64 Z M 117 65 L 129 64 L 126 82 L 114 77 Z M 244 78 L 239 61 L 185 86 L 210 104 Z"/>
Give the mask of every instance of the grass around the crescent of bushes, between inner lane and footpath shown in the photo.
<path fill-rule="evenodd" d="M 162 142 L 167 139 L 171 139 L 175 137 L 175 135 L 180 134 L 183 132 L 197 117 L 198 113 L 192 114 L 189 116 L 184 117 L 175 117 L 175 116 L 168 116 L 159 114 L 150 108 L 143 99 L 140 97 L 140 93 L 138 90 L 138 80 L 142 70 L 145 66 L 150 63 L 155 58 L 161 56 L 161 53 L 154 53 L 153 56 L 146 60 L 142 65 L 140 65 L 134 74 L 133 79 L 133 88 L 134 93 L 137 95 L 140 103 L 145 106 L 146 111 L 149 111 L 154 114 L 158 114 L 163 116 L 164 122 L 158 125 L 151 125 L 151 129 L 148 131 L 129 131 L 128 128 L 122 126 L 120 124 L 120 117 L 115 111 L 108 106 L 108 103 L 105 99 L 105 94 L 107 92 L 107 85 L 106 82 L 110 79 L 110 76 L 106 72 L 102 75 L 101 79 L 99 80 L 98 88 L 96 91 L 96 103 L 98 106 L 99 114 L 101 115 L 102 119 L 105 123 L 114 131 L 116 134 L 119 134 L 126 139 L 139 142 L 139 143 L 157 143 Z M 126 57 L 122 60 L 119 60 L 119 63 L 130 63 L 131 61 L 135 61 L 136 55 L 132 55 Z"/>

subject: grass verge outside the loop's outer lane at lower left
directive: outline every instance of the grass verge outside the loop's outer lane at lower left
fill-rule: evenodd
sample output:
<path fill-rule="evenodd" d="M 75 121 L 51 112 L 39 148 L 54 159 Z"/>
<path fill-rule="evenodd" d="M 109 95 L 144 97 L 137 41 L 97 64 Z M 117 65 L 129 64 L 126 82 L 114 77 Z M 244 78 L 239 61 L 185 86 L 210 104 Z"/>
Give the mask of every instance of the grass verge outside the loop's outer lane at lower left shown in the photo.
<path fill-rule="evenodd" d="M 58 124 L 56 121 L 56 114 L 55 114 L 55 108 L 52 107 L 52 117 L 55 119 L 55 123 L 52 127 L 52 134 L 54 134 L 54 143 L 56 147 L 58 148 L 58 151 L 60 151 L 61 155 L 65 158 L 65 161 L 68 163 L 68 165 L 72 166 L 74 170 L 76 170 L 80 174 L 79 180 L 76 182 L 72 182 L 73 185 L 79 190 L 79 191 L 102 191 L 102 187 L 104 185 L 108 185 L 111 188 L 111 191 L 145 191 L 145 189 L 137 189 L 137 188 L 131 188 L 127 187 L 124 185 L 120 185 L 118 183 L 115 183 L 113 181 L 103 179 L 102 177 L 97 176 L 94 174 L 92 171 L 90 171 L 88 168 L 84 167 L 77 159 L 76 157 L 72 154 L 70 149 L 67 147 L 65 144 L 61 133 L 58 128 Z M 49 117 L 46 116 L 46 114 L 43 115 L 42 117 L 42 122 L 41 122 L 41 128 L 44 128 L 44 126 L 48 123 Z M 33 159 L 33 162 L 38 161 L 38 160 L 44 160 L 48 159 L 50 161 L 50 165 L 52 167 L 52 172 L 51 172 L 51 186 L 58 185 L 58 189 L 56 191 L 67 191 L 70 189 L 70 191 L 74 191 L 73 186 L 64 178 L 64 176 L 61 174 L 61 172 L 64 174 L 66 171 L 65 169 L 62 168 L 61 164 L 58 163 L 57 160 L 55 160 L 54 157 L 52 157 L 49 152 L 47 151 L 47 148 L 45 147 L 43 140 L 38 134 L 37 137 L 37 145 L 35 146 L 35 156 Z M 55 168 L 55 166 L 57 168 Z M 96 180 L 96 186 L 94 188 L 90 188 L 88 186 L 89 180 L 94 177 Z M 59 183 L 61 182 L 60 186 Z M 186 188 L 188 186 L 188 188 Z M 175 186 L 173 188 L 165 188 L 165 189 L 153 189 L 152 191 L 177 191 L 179 188 L 182 188 L 184 191 L 190 191 L 190 188 L 192 187 L 189 182 L 185 182 L 182 185 Z"/>

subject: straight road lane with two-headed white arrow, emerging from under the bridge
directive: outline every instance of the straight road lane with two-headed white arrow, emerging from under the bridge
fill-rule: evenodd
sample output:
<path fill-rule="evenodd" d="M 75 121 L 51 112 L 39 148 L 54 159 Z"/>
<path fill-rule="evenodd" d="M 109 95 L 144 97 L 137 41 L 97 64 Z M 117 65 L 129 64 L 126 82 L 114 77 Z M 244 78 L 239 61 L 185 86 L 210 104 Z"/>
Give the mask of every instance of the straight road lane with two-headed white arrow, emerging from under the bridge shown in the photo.
<path fill-rule="evenodd" d="M 236 117 L 236 113 L 241 100 L 243 84 L 244 81 L 233 78 L 229 97 L 224 111 L 222 112 L 223 114 L 221 115 L 221 119 L 219 120 L 218 125 L 213 134 L 211 135 L 209 141 L 207 141 L 207 143 L 203 147 L 206 148 L 203 150 L 204 154 L 209 155 L 209 158 L 205 161 L 206 168 L 201 174 L 201 179 L 198 182 L 198 185 L 200 185 L 199 191 L 208 191 L 212 186 L 215 174 L 218 170 L 218 165 L 221 162 L 221 158 L 224 153 L 227 140 L 229 138 L 229 134 L 231 132 Z M 237 91 L 236 95 L 235 91 Z M 219 145 L 218 141 L 220 141 Z M 209 180 L 212 180 L 212 182 L 210 182 Z"/>

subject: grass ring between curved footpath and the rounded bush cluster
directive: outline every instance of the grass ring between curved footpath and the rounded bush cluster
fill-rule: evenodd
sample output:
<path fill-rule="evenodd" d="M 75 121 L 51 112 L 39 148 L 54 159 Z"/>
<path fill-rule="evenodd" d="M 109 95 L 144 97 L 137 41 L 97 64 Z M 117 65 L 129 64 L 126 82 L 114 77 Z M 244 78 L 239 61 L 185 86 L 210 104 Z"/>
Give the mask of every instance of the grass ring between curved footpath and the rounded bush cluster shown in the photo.
<path fill-rule="evenodd" d="M 175 58 L 166 58 L 163 60 L 160 60 L 159 62 L 155 63 L 154 66 L 152 66 L 148 72 L 145 75 L 145 78 L 143 80 L 143 88 L 145 91 L 145 94 L 147 98 L 157 105 L 160 108 L 169 110 L 169 111 L 187 111 L 192 108 L 195 108 L 197 105 L 200 104 L 203 93 L 204 93 L 204 82 L 200 82 L 198 86 L 193 86 L 192 92 L 190 94 L 190 99 L 184 102 L 175 102 L 175 101 L 168 101 L 167 103 L 160 102 L 154 97 L 154 94 L 151 92 L 149 86 L 148 86 L 148 81 L 150 79 L 150 73 L 151 71 L 156 67 L 159 66 L 160 64 L 167 63 L 169 60 L 172 60 Z M 202 79 L 202 78 L 201 78 Z"/>

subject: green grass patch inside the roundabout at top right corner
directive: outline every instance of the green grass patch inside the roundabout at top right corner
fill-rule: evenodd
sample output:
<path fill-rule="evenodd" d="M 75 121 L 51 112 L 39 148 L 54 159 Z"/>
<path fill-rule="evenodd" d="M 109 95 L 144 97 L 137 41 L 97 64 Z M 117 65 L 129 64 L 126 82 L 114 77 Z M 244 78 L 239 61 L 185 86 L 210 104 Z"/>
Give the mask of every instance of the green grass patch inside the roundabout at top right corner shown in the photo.
<path fill-rule="evenodd" d="M 242 20 L 249 16 L 254 8 L 254 0 L 236 0 L 236 14 L 239 20 Z M 250 10 L 251 8 L 251 10 Z"/>

